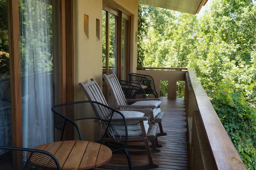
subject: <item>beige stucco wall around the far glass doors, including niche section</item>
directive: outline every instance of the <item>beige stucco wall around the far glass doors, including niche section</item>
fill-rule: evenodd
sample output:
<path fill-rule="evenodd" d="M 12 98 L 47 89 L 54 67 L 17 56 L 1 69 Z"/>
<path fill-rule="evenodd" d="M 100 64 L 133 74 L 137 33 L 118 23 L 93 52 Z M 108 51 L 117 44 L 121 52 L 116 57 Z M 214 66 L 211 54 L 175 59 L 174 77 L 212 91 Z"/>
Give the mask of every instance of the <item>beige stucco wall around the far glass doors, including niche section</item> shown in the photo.
<path fill-rule="evenodd" d="M 104 0 L 105 1 L 105 0 Z M 120 10 L 131 16 L 131 71 L 136 71 L 138 0 L 111 0 Z M 84 32 L 84 14 L 89 16 L 89 39 Z M 96 39 L 96 18 L 100 19 L 100 40 Z M 78 83 L 94 78 L 102 86 L 102 0 L 74 0 L 74 100 L 87 100 Z M 93 122 L 80 122 L 84 140 L 95 140 Z M 86 130 L 85 130 L 86 129 Z"/>

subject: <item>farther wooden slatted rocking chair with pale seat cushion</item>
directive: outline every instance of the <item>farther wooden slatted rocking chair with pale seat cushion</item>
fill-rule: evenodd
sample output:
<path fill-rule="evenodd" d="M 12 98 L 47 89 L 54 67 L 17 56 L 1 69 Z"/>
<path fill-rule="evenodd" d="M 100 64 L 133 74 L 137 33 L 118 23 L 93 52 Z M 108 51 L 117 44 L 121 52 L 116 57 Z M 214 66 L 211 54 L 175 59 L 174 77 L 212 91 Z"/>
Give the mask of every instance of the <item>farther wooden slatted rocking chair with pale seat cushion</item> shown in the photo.
<path fill-rule="evenodd" d="M 114 99 L 114 108 L 152 108 L 153 112 L 150 113 L 150 121 L 151 124 L 158 123 L 160 133 L 158 133 L 158 136 L 165 136 L 167 133 L 164 132 L 162 129 L 162 118 L 164 117 L 164 112 L 161 112 L 160 109 L 160 98 L 144 98 L 144 99 L 129 99 L 126 100 L 126 98 L 123 95 L 123 91 L 121 89 L 121 86 L 118 82 L 118 79 L 116 75 L 112 72 L 110 75 L 102 74 L 103 79 L 107 83 L 107 86 L 110 90 L 111 95 Z M 129 102 L 135 102 L 131 105 L 129 105 Z"/>

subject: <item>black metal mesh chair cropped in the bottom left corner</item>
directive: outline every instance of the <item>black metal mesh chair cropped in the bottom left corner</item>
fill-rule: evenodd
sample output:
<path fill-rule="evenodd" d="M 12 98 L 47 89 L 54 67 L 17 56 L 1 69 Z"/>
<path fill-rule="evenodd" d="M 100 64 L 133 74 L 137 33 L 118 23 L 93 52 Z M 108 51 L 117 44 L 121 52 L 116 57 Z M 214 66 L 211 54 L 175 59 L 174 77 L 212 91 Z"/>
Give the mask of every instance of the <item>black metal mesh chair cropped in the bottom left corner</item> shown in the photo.
<path fill-rule="evenodd" d="M 53 154 L 38 149 L 0 146 L 1 170 L 61 170 Z"/>

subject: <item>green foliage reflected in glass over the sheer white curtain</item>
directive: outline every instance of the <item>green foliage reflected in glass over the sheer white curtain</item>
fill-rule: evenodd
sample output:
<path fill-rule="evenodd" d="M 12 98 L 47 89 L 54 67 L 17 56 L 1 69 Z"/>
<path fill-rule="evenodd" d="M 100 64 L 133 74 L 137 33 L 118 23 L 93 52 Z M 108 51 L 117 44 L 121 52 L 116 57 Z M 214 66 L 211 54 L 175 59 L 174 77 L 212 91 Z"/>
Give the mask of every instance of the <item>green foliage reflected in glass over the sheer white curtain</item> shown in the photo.
<path fill-rule="evenodd" d="M 19 0 L 19 12 L 21 74 L 53 70 L 52 5 Z"/>

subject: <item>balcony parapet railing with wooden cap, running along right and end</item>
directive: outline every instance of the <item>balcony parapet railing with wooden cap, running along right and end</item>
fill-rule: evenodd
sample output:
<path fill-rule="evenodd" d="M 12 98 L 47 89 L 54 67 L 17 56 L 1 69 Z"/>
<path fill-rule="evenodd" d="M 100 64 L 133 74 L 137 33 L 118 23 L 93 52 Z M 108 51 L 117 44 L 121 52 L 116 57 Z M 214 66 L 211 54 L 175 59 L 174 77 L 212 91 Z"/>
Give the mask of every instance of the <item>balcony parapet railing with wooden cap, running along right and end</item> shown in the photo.
<path fill-rule="evenodd" d="M 169 71 L 167 69 L 139 68 L 137 73 L 151 75 L 158 90 L 160 80 L 168 80 L 169 98 L 176 98 L 176 82 L 185 81 L 189 169 L 245 170 L 194 71 L 190 68 L 170 68 Z"/>

